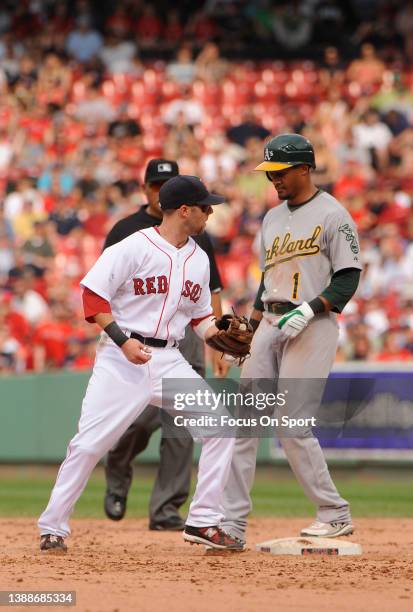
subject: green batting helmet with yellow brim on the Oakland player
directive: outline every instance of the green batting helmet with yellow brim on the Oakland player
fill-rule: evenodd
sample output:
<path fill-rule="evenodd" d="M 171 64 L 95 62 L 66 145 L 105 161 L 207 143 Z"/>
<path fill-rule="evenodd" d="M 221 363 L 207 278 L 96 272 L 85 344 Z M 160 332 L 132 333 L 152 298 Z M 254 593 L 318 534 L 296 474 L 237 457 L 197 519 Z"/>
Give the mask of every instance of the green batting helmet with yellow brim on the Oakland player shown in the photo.
<path fill-rule="evenodd" d="M 280 134 L 267 142 L 264 147 L 264 161 L 255 170 L 277 172 L 301 164 L 315 168 L 311 142 L 300 134 Z"/>

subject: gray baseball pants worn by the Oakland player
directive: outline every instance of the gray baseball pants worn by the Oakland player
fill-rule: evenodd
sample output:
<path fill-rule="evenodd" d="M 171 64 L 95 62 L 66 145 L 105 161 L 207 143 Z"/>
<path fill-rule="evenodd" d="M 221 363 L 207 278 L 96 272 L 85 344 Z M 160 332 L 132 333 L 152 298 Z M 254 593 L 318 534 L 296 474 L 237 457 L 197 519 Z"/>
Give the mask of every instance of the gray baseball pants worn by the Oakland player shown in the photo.
<path fill-rule="evenodd" d="M 337 349 L 335 316 L 326 314 L 313 319 L 297 338 L 289 341 L 283 340 L 278 328 L 271 324 L 276 317 L 264 316 L 241 378 L 281 379 L 281 384 L 288 388 L 288 416 L 315 416 Z M 292 380 L 289 384 L 285 379 Z M 309 382 L 308 379 L 316 380 Z M 300 437 L 281 435 L 280 443 L 298 482 L 317 508 L 317 520 L 350 522 L 349 504 L 339 495 L 311 429 L 301 430 Z M 258 444 L 258 438 L 236 440 L 224 492 L 222 526 L 241 539 L 245 539 L 247 517 L 252 509 L 250 491 Z"/>

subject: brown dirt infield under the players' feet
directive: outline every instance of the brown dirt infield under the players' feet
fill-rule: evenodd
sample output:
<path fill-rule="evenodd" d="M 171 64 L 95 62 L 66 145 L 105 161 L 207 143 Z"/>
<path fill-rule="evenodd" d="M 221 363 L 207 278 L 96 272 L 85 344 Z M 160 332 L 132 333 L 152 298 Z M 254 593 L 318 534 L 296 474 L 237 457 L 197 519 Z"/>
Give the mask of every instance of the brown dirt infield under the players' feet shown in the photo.
<path fill-rule="evenodd" d="M 251 520 L 249 544 L 294 536 L 306 524 Z M 1 519 L 0 590 L 74 590 L 82 612 L 413 610 L 413 519 L 356 525 L 361 557 L 313 558 L 253 548 L 210 555 L 180 533 L 148 531 L 143 520 L 75 520 L 69 552 L 52 556 L 38 550 L 35 521 Z"/>

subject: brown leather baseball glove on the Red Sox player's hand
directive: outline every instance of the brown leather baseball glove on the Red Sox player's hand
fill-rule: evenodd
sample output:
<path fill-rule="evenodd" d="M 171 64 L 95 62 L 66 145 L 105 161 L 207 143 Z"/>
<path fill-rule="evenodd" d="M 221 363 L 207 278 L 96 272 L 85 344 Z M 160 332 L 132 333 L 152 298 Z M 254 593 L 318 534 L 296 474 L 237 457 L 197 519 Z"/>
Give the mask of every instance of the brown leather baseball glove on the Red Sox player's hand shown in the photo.
<path fill-rule="evenodd" d="M 250 354 L 254 330 L 246 317 L 227 314 L 217 319 L 215 325 L 219 332 L 211 336 L 206 343 L 215 351 L 239 359 L 242 365 Z"/>

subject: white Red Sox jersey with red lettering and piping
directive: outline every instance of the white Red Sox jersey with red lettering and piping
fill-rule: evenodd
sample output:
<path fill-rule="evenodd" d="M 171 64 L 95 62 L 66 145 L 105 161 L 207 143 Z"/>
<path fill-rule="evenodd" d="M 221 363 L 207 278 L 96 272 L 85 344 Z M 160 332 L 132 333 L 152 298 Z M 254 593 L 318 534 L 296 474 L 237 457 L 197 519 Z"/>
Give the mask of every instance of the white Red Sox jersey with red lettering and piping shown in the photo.
<path fill-rule="evenodd" d="M 105 249 L 82 279 L 110 302 L 124 331 L 179 341 L 192 319 L 212 314 L 209 261 L 192 238 L 177 249 L 157 228 Z"/>

